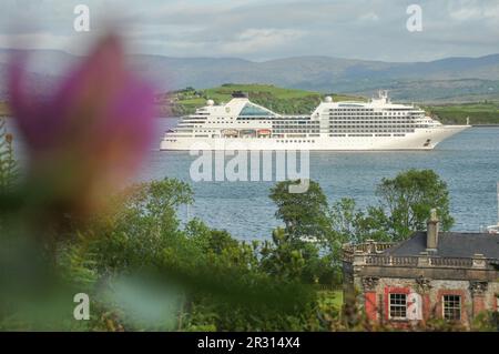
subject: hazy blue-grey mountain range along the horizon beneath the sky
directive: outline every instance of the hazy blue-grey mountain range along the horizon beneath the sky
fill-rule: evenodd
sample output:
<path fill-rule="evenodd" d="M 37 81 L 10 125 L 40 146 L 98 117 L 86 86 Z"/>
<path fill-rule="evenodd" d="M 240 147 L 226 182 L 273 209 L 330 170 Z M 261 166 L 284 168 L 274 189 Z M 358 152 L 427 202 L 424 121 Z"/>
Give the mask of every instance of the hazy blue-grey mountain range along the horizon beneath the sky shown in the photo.
<path fill-rule="evenodd" d="M 57 75 L 79 60 L 60 51 L 32 51 L 31 71 Z M 0 65 L 8 51 L 0 50 Z M 133 55 L 134 67 L 160 91 L 206 89 L 223 83 L 279 87 L 371 95 L 388 89 L 404 101 L 476 101 L 499 99 L 499 54 L 447 58 L 430 62 L 381 62 L 330 57 L 297 57 L 254 62 L 232 58 Z M 1 68 L 1 67 L 0 67 Z M 1 93 L 0 93 L 1 94 Z"/>

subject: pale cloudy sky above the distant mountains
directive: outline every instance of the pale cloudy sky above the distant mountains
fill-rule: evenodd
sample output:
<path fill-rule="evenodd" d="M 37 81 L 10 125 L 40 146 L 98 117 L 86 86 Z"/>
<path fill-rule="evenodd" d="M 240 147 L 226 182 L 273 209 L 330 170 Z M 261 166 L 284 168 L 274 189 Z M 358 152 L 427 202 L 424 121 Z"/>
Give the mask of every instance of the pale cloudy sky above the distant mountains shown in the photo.
<path fill-rule="evenodd" d="M 422 9 L 422 31 L 406 28 Z M 91 31 L 73 29 L 77 4 Z M 429 61 L 499 52 L 499 0 L 1 0 L 0 48 L 84 51 L 112 20 L 134 52 Z"/>

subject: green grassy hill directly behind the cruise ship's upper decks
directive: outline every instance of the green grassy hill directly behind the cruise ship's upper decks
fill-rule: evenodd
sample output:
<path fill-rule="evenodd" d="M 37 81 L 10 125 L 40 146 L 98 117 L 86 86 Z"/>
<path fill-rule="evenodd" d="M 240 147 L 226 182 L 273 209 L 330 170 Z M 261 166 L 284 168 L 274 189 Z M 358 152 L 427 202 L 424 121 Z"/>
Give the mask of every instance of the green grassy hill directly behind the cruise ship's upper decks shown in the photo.
<path fill-rule="evenodd" d="M 268 108 L 277 113 L 307 114 L 310 113 L 320 99 L 326 94 L 295 89 L 283 89 L 271 84 L 223 84 L 217 88 L 206 90 L 174 91 L 159 98 L 162 111 L 170 111 L 172 115 L 183 115 L 193 113 L 196 108 L 203 107 L 207 99 L 214 100 L 216 104 L 228 102 L 234 91 L 248 93 L 252 102 Z M 334 100 L 342 101 L 365 101 L 361 97 L 329 94 Z"/>

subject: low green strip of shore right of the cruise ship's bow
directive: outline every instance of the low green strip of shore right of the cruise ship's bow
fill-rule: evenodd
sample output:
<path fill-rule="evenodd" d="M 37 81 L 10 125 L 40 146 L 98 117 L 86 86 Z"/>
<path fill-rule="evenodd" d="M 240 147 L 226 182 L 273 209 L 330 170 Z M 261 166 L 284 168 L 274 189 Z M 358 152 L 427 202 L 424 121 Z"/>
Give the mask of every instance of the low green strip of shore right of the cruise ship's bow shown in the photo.
<path fill-rule="evenodd" d="M 499 101 L 430 105 L 424 108 L 431 117 L 447 124 L 499 124 Z"/>

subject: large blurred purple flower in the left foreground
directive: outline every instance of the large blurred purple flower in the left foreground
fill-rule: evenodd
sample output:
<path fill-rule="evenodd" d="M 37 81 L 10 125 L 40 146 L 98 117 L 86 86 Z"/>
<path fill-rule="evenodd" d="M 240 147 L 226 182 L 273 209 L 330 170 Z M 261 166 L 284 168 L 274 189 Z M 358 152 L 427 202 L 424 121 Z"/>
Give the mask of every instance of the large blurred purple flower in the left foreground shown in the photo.
<path fill-rule="evenodd" d="M 10 105 L 30 156 L 29 176 L 82 206 L 130 176 L 151 141 L 154 93 L 126 69 L 119 37 L 104 37 L 50 99 L 28 92 L 24 74 L 26 58 L 13 58 Z"/>

